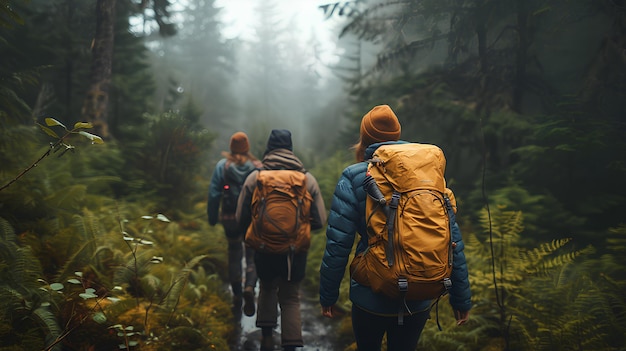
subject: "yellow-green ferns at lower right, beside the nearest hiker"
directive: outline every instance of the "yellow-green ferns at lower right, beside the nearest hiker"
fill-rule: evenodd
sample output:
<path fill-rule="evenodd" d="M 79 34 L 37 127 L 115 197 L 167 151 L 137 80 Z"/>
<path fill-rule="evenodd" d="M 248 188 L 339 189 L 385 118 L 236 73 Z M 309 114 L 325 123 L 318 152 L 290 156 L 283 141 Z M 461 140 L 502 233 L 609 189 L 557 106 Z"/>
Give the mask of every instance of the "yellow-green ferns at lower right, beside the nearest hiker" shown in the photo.
<path fill-rule="evenodd" d="M 603 306 L 622 309 L 624 299 L 594 278 L 598 267 L 587 266 L 593 248 L 565 250 L 570 240 L 555 239 L 526 249 L 520 212 L 497 210 L 489 222 L 485 211 L 482 227 L 484 239 L 470 234 L 465 252 L 476 306 L 472 314 L 482 317 L 485 331 L 499 330 L 505 349 L 612 349 L 615 339 L 607 335 L 619 335 L 623 328 L 611 322 L 611 308 Z"/>

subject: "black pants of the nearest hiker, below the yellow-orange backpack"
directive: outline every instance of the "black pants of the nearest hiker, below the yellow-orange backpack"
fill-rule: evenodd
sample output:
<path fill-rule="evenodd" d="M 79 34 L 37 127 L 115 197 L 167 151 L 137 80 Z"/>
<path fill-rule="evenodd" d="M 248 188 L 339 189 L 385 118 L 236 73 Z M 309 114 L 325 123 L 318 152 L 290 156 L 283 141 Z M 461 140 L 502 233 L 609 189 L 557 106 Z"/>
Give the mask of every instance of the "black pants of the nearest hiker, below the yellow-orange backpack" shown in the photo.
<path fill-rule="evenodd" d="M 404 316 L 404 325 L 398 325 L 397 316 L 379 316 L 352 305 L 352 330 L 357 350 L 380 351 L 387 333 L 387 350 L 414 351 L 429 317 L 429 310 L 418 312 Z"/>

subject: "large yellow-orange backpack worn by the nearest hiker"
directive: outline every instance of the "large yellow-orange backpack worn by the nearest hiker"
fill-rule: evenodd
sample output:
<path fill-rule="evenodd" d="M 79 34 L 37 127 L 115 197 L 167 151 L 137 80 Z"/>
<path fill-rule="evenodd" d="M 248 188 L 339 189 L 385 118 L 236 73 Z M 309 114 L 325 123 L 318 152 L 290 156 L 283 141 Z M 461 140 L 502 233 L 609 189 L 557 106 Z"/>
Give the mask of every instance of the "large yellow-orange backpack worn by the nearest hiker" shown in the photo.
<path fill-rule="evenodd" d="M 443 151 L 428 144 L 382 145 L 368 162 L 369 247 L 353 259 L 352 278 L 402 301 L 440 297 L 451 286 L 456 207 Z"/>

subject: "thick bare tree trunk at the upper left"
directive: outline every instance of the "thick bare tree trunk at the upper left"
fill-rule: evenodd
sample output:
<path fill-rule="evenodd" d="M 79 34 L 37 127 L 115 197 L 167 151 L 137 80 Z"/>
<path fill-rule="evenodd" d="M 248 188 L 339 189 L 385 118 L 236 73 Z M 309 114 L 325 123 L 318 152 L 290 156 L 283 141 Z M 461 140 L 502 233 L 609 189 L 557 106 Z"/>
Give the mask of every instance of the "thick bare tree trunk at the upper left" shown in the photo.
<path fill-rule="evenodd" d="M 83 103 L 83 118 L 93 123 L 94 132 L 109 136 L 107 108 L 113 57 L 115 1 L 98 0 L 96 4 L 96 36 L 92 45 L 91 83 Z"/>

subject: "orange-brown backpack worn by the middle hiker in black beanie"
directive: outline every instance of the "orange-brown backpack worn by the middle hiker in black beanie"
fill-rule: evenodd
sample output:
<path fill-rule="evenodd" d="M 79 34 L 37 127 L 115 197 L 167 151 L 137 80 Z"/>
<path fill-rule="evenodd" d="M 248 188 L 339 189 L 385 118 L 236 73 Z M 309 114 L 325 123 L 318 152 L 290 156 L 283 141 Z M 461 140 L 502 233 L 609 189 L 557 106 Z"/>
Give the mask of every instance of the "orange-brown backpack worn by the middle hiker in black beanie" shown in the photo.
<path fill-rule="evenodd" d="M 252 194 L 252 222 L 245 241 L 255 250 L 290 254 L 311 244 L 311 203 L 306 174 L 296 170 L 260 170 Z"/>

